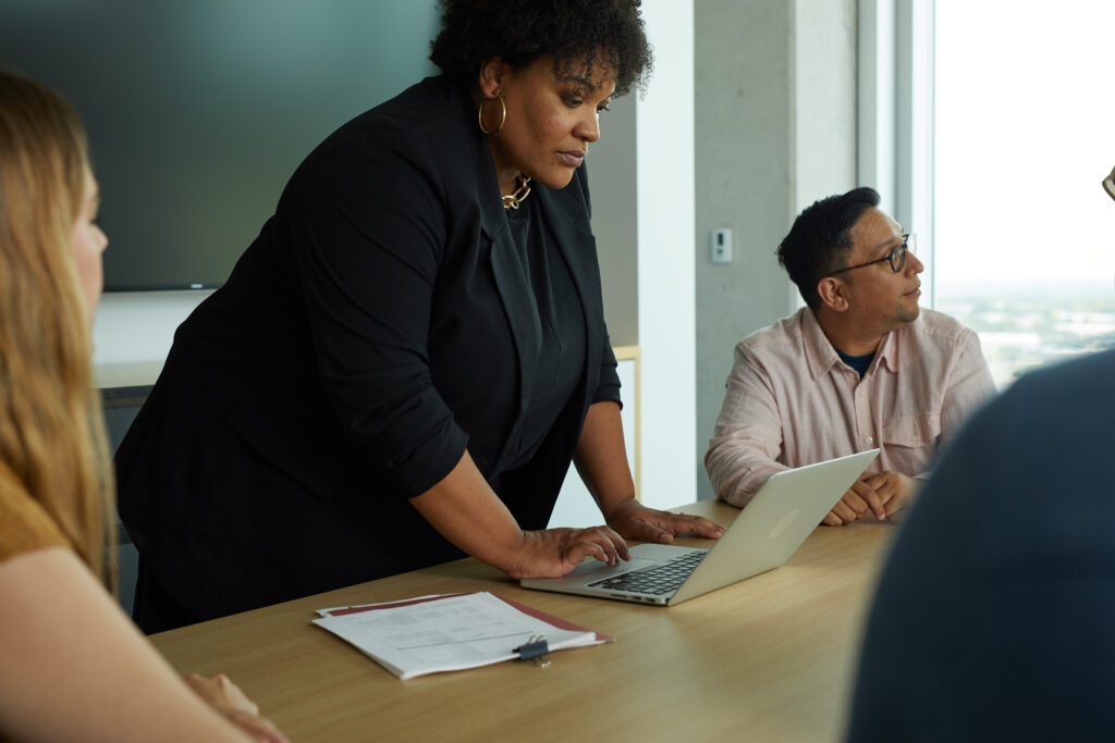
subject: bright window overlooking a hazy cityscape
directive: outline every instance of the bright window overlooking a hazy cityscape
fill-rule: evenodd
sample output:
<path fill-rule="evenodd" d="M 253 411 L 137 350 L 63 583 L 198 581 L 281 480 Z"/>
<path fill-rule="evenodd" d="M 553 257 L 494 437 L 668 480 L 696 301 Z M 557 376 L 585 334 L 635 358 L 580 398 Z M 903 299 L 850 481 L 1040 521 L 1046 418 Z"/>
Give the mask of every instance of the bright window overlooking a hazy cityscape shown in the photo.
<path fill-rule="evenodd" d="M 934 305 L 1000 389 L 1115 348 L 1113 29 L 1112 0 L 935 3 Z"/>

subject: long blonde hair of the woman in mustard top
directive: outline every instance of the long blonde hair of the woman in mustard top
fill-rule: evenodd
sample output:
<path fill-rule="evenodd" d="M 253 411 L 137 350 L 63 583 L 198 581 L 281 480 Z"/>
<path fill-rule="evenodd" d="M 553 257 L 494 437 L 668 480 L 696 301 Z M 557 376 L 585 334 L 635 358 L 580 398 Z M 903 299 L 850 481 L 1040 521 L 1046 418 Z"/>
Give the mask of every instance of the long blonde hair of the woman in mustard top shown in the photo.
<path fill-rule="evenodd" d="M 71 244 L 88 163 L 74 108 L 0 69 L 0 468 L 115 588 L 114 482 Z"/>

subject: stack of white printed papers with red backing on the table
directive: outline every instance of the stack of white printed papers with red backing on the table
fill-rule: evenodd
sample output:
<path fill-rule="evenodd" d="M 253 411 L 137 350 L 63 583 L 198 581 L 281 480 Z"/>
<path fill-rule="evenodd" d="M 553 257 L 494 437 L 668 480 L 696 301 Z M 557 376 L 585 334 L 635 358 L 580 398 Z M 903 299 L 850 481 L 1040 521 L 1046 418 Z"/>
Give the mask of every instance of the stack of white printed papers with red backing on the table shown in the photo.
<path fill-rule="evenodd" d="M 399 678 L 517 658 L 543 636 L 550 651 L 611 642 L 488 593 L 423 596 L 390 604 L 320 609 L 313 624 L 356 645 Z"/>

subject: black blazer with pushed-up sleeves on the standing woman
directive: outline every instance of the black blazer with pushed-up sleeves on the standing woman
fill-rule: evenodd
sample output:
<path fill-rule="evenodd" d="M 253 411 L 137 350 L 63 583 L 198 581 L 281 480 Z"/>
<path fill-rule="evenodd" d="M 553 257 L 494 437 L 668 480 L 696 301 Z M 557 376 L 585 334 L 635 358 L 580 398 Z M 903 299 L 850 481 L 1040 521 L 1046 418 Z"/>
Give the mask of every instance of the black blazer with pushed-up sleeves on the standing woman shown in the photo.
<path fill-rule="evenodd" d="M 116 463 L 145 569 L 194 618 L 459 557 L 407 499 L 466 447 L 520 525 L 544 528 L 589 405 L 619 401 L 582 167 L 530 198 L 588 360 L 508 469 L 542 335 L 475 119 L 428 78 L 341 127 L 175 333 Z"/>

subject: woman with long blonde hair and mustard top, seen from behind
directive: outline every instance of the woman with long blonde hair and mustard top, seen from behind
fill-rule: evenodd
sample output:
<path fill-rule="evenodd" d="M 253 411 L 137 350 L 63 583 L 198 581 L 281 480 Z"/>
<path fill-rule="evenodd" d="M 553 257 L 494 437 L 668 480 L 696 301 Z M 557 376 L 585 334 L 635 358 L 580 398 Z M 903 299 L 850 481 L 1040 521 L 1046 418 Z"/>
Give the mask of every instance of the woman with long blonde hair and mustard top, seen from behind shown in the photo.
<path fill-rule="evenodd" d="M 97 203 L 72 108 L 0 70 L 0 739 L 284 740 L 226 677 L 183 683 L 105 589 Z"/>

